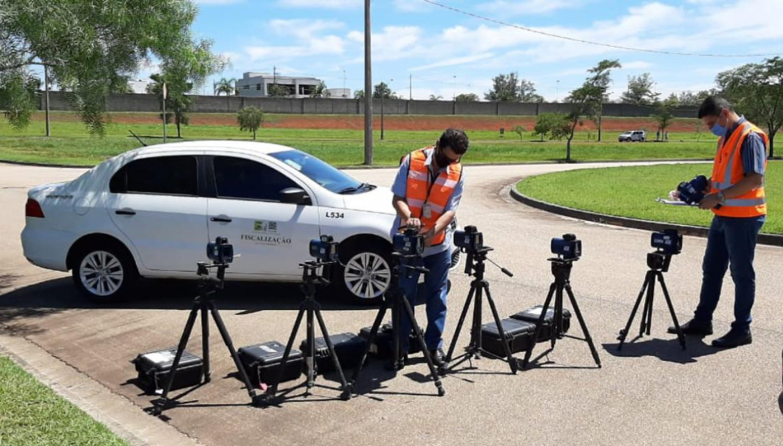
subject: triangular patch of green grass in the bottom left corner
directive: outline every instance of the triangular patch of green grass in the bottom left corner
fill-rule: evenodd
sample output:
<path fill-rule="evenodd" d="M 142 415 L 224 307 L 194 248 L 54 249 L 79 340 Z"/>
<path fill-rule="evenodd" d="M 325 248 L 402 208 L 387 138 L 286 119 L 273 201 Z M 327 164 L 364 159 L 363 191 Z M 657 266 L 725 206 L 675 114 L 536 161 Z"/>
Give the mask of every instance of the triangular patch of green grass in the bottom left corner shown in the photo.
<path fill-rule="evenodd" d="M 128 444 L 0 356 L 0 444 L 110 446 Z"/>

